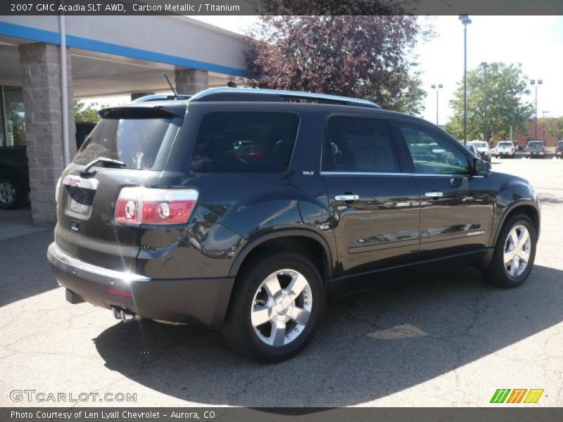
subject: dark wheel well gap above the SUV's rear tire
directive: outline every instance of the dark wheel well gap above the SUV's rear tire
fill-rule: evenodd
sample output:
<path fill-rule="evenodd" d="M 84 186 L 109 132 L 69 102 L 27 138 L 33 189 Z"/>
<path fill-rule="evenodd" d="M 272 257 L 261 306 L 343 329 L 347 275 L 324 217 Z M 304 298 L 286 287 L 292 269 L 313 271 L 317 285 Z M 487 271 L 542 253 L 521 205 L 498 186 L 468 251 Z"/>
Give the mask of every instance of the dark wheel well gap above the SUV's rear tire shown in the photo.
<path fill-rule="evenodd" d="M 273 238 L 257 245 L 251 252 L 244 257 L 241 262 L 240 270 L 259 255 L 265 254 L 268 250 L 278 250 L 286 252 L 297 252 L 307 256 L 312 263 L 317 267 L 319 274 L 323 281 L 326 281 L 329 276 L 329 264 L 327 253 L 324 251 L 322 245 L 312 238 L 307 236 L 283 236 Z"/>

